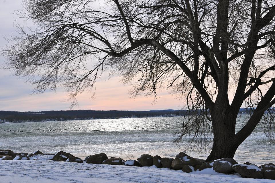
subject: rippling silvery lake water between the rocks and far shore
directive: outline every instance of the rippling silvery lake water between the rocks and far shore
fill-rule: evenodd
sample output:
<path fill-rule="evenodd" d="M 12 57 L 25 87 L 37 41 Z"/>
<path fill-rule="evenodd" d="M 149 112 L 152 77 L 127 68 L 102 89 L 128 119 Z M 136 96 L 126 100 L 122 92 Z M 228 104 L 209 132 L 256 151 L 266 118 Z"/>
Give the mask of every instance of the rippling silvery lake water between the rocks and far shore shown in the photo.
<path fill-rule="evenodd" d="M 237 130 L 243 118 L 237 121 Z M 65 151 L 79 156 L 104 152 L 108 156 L 139 156 L 141 154 L 175 157 L 186 143 L 173 142 L 181 117 L 74 120 L 0 124 L 0 149 L 14 152 L 44 153 Z M 258 128 L 235 154 L 238 162 L 275 163 L 274 144 L 266 140 Z M 207 152 L 189 150 L 186 154 L 207 158 Z"/>

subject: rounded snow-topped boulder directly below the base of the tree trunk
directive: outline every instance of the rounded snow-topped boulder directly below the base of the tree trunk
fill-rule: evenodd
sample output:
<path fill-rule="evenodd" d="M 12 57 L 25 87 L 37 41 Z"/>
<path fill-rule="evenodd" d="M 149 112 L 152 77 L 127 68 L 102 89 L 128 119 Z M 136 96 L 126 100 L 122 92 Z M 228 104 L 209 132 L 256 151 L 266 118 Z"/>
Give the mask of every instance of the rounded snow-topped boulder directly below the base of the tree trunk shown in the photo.
<path fill-rule="evenodd" d="M 233 165 L 235 164 L 237 162 L 233 158 L 222 158 L 214 161 L 213 169 L 219 173 L 229 174 L 234 171 Z"/>

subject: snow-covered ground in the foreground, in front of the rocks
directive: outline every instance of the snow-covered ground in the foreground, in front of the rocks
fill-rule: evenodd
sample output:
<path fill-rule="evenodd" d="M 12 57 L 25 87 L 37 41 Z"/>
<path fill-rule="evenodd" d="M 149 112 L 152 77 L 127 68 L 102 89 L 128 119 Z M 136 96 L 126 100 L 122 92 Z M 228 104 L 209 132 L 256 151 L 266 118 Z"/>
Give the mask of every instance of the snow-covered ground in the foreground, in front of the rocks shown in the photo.
<path fill-rule="evenodd" d="M 201 172 L 184 173 L 168 168 L 132 167 L 38 160 L 1 160 L 1 183 L 195 183 L 195 182 L 250 182 L 271 183 L 274 180 L 247 179 L 237 174 L 225 175 L 212 168 Z"/>

